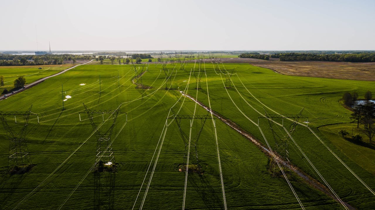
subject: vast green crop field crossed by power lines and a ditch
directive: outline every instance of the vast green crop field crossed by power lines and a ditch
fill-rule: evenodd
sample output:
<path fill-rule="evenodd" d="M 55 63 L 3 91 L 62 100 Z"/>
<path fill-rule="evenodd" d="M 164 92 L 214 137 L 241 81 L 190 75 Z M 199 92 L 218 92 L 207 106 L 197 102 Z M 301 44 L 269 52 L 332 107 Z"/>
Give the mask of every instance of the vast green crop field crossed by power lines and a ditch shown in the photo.
<path fill-rule="evenodd" d="M 9 173 L 9 138 L 0 129 L 0 209 L 375 206 L 375 150 L 351 145 L 337 135 L 338 127 L 324 126 L 351 125 L 351 111 L 339 102 L 342 94 L 374 91 L 374 82 L 296 77 L 250 64 L 216 61 L 189 62 L 183 67 L 168 64 L 166 69 L 155 63 L 97 63 L 81 65 L 0 101 L 0 111 L 27 111 L 32 105 L 31 111 L 38 114 L 28 121 L 27 149 L 33 167 L 26 173 Z M 29 74 L 35 76 L 29 79 L 43 77 L 38 71 L 31 69 Z M 5 77 L 11 76 L 15 75 Z M 230 88 L 226 78 L 230 78 Z M 328 192 L 293 170 L 278 167 L 273 153 L 263 152 L 192 98 L 276 153 L 283 150 L 276 148 L 270 124 L 279 135 L 290 134 L 290 163 Z M 90 110 L 119 108 L 110 145 L 115 182 L 112 191 L 105 188 L 100 198 L 95 194 L 94 172 L 98 138 L 83 104 Z M 302 109 L 308 119 L 301 118 L 293 135 L 287 118 L 275 120 L 279 124 L 262 118 L 266 113 L 297 115 Z M 92 119 L 107 130 L 112 115 Z M 15 130 L 23 126 L 21 117 L 15 123 L 9 115 L 6 121 Z M 353 146 L 357 152 L 351 151 Z M 101 177 L 103 185 L 105 178 Z M 110 192 L 113 199 L 105 196 Z"/>

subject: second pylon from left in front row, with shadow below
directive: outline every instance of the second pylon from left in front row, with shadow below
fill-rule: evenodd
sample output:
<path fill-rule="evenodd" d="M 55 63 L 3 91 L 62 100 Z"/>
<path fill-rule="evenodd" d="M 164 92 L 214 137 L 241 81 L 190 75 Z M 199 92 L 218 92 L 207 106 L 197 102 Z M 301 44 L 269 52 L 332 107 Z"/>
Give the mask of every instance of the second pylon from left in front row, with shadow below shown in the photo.
<path fill-rule="evenodd" d="M 111 135 L 113 134 L 117 116 L 120 114 L 121 105 L 115 110 L 90 110 L 85 104 L 83 106 L 86 111 L 80 112 L 80 120 L 81 113 L 86 113 L 98 139 L 96 142 L 96 166 L 94 170 L 94 209 L 114 209 L 116 164 L 114 163 L 115 157 L 112 150 Z M 104 117 L 105 115 L 106 117 Z M 98 121 L 101 121 L 99 125 Z"/>

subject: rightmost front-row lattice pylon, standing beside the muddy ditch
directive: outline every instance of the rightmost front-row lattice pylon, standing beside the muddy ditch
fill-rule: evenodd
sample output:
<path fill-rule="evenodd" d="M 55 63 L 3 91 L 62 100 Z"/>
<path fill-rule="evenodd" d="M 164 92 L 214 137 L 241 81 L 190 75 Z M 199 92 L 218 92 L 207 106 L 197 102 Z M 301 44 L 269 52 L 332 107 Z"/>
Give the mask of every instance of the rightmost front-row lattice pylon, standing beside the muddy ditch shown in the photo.
<path fill-rule="evenodd" d="M 296 126 L 299 123 L 299 120 L 301 118 L 305 118 L 306 121 L 308 121 L 308 118 L 302 115 L 302 111 L 303 109 L 298 114 L 294 114 L 294 115 L 267 114 L 266 112 L 266 117 L 260 117 L 260 118 L 267 118 L 273 138 L 275 139 L 275 146 L 276 146 L 275 150 L 281 156 L 281 160 L 275 160 L 275 161 L 283 162 L 284 165 L 288 165 L 290 163 L 289 142 L 290 142 L 291 136 L 293 136 L 293 133 L 296 130 Z M 287 124 L 284 122 L 285 118 L 289 118 L 293 121 L 288 120 L 287 122 L 288 124 Z M 281 130 L 278 126 L 285 128 L 289 134 L 285 133 L 286 131 L 284 129 Z"/>

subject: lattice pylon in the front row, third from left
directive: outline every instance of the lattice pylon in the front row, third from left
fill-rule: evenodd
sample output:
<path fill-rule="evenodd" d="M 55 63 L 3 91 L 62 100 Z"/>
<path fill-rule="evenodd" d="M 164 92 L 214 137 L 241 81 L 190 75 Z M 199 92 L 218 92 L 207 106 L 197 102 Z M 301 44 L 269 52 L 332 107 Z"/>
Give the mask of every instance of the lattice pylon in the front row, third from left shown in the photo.
<path fill-rule="evenodd" d="M 196 146 L 198 144 L 198 140 L 199 140 L 199 137 L 201 136 L 206 120 L 212 119 L 212 117 L 209 117 L 208 114 L 207 115 L 176 115 L 174 113 L 172 116 L 168 118 L 175 120 L 178 126 L 178 130 L 180 131 L 181 138 L 185 144 L 183 163 L 185 164 L 187 162 L 186 149 L 188 149 L 187 146 L 190 146 L 189 145 L 189 136 L 190 136 L 190 142 L 192 142 L 192 144 L 195 147 L 195 158 L 196 158 L 196 164 L 198 165 L 199 164 L 198 150 Z M 189 124 L 186 124 L 186 123 L 189 123 Z M 187 127 L 189 129 L 186 129 Z M 195 128 L 194 134 L 193 134 L 193 127 Z"/>

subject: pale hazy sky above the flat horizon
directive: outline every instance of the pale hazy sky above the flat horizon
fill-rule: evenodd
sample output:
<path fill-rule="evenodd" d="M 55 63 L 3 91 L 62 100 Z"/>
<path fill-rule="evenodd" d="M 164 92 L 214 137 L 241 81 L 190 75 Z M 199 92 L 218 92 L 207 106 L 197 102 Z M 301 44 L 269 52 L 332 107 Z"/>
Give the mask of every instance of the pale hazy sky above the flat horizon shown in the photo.
<path fill-rule="evenodd" d="M 4 0 L 0 50 L 375 50 L 375 0 Z"/>

